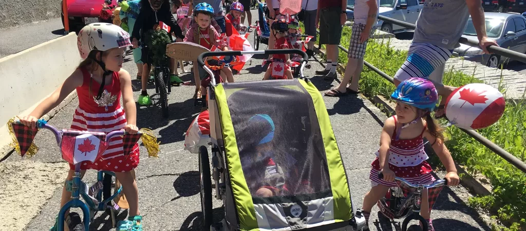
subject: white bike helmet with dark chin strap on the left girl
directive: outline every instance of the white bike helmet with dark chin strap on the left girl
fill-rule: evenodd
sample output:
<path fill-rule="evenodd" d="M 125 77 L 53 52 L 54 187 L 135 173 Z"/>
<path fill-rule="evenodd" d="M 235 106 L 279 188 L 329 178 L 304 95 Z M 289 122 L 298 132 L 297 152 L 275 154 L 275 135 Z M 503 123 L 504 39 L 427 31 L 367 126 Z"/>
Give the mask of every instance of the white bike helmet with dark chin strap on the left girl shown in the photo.
<path fill-rule="evenodd" d="M 82 59 L 93 59 L 104 71 L 103 81 L 97 95 L 97 99 L 99 99 L 102 96 L 106 75 L 112 74 L 113 71 L 107 71 L 106 65 L 102 60 L 97 60 L 97 53 L 92 51 L 99 51 L 102 54 L 102 52 L 113 48 L 131 46 L 130 35 L 123 28 L 114 24 L 92 23 L 84 26 L 78 32 L 77 46 Z"/>

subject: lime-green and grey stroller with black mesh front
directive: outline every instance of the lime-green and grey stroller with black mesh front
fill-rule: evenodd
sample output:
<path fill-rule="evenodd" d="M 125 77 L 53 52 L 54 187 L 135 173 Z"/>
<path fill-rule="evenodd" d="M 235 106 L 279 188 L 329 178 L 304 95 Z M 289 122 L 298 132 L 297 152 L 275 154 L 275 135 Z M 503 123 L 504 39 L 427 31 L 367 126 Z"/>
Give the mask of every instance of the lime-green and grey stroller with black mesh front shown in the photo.
<path fill-rule="evenodd" d="M 304 57 L 298 79 L 219 84 L 211 79 L 211 155 L 207 146 L 199 147 L 204 230 L 361 230 L 365 225 L 353 206 L 323 99 L 302 73 L 304 51 L 205 52 L 197 62 L 213 76 L 205 57 L 291 53 Z M 224 204 L 218 222 L 213 198 Z"/>

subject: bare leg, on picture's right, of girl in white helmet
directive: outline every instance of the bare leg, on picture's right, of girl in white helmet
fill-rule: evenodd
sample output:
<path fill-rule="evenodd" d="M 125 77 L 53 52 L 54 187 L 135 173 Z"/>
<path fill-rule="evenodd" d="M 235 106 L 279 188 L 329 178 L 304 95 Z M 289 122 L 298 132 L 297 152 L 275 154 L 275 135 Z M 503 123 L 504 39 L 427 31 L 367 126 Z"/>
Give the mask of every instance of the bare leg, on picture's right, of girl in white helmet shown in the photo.
<path fill-rule="evenodd" d="M 123 185 L 124 196 L 128 200 L 128 217 L 137 216 L 139 212 L 139 188 L 131 171 L 115 172 L 115 177 Z"/>

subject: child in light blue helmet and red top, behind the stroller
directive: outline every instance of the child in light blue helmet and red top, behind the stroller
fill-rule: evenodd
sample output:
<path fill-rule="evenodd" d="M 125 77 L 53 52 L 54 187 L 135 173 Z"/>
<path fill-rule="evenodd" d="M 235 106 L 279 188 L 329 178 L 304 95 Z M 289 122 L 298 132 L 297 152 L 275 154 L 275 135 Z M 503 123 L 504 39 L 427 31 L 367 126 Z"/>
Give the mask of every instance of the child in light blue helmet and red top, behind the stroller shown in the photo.
<path fill-rule="evenodd" d="M 197 43 L 201 46 L 212 50 L 214 46 L 222 51 L 228 51 L 228 46 L 225 40 L 222 40 L 216 29 L 210 26 L 211 20 L 213 20 L 214 9 L 208 3 L 199 3 L 194 8 L 194 19 L 197 23 L 190 26 L 188 33 L 184 39 L 185 42 Z M 208 59 L 209 65 L 220 66 L 217 60 Z M 229 83 L 234 82 L 234 76 L 229 66 L 223 66 L 221 72 L 226 75 L 226 79 Z M 201 68 L 197 62 L 194 62 L 194 80 L 196 82 L 196 91 L 194 99 L 201 98 L 201 79 L 206 78 L 208 73 L 205 69 Z"/>

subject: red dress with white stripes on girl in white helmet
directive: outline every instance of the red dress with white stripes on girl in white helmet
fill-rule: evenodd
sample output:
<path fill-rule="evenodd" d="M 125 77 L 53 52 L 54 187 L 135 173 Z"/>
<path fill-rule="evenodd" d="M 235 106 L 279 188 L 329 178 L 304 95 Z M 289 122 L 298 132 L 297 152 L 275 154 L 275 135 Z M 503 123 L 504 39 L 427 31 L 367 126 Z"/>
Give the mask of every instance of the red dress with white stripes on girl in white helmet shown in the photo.
<path fill-rule="evenodd" d="M 119 73 L 114 72 L 112 83 L 104 86 L 104 92 L 96 100 L 100 84 L 92 80 L 92 75 L 84 68 L 83 84 L 77 90 L 78 107 L 73 115 L 71 129 L 92 132 L 112 132 L 126 126 L 126 117 L 120 106 L 120 80 Z M 89 93 L 91 84 L 91 93 Z M 102 157 L 95 163 L 85 162 L 82 169 L 97 169 L 107 171 L 130 171 L 139 164 L 139 147 L 135 143 L 130 153 L 124 153 L 123 138 L 113 137 Z M 129 155 L 128 155 L 129 154 Z M 69 165 L 74 169 L 74 165 Z"/>

